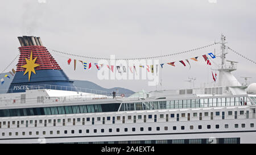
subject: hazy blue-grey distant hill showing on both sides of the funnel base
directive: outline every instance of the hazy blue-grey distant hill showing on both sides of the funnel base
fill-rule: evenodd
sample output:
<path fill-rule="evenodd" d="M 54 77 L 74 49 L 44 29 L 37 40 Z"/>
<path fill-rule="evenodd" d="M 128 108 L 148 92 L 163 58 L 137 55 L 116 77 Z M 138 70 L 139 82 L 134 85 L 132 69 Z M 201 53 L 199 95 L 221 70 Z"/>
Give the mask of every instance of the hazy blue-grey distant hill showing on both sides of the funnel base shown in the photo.
<path fill-rule="evenodd" d="M 10 79 L 5 77 L 6 74 L 10 77 Z M 0 79 L 2 79 L 2 78 L 5 79 L 5 82 L 3 83 L 3 85 L 1 85 L 1 83 L 0 83 L 0 93 L 6 93 L 7 89 L 9 89 L 11 81 L 13 81 L 13 76 L 11 76 L 10 73 L 2 73 L 2 74 L 0 74 Z M 73 81 L 74 81 L 74 85 L 76 87 L 80 87 L 80 88 L 84 88 L 84 89 L 102 90 L 102 91 L 106 91 L 106 93 L 108 95 L 112 95 L 113 91 L 115 91 L 117 93 L 117 90 L 118 90 L 118 93 L 125 94 L 125 97 L 129 97 L 131 94 L 135 93 L 132 90 L 125 89 L 122 87 L 113 87 L 110 89 L 106 89 L 106 88 L 101 87 L 101 86 L 97 85 L 96 83 L 93 83 L 90 81 L 82 81 L 82 80 L 73 80 Z M 3 91 L 3 90 L 6 90 L 6 91 Z"/>

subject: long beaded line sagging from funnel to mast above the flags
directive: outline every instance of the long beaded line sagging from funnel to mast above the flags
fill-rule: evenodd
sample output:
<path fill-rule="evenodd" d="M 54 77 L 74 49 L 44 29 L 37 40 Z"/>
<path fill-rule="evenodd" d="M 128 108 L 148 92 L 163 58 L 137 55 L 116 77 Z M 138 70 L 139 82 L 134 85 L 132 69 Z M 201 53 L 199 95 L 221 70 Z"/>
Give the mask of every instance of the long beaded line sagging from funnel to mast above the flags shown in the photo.
<path fill-rule="evenodd" d="M 82 58 L 90 58 L 90 59 L 100 59 L 100 60 L 146 60 L 146 59 L 152 59 L 152 58 L 160 58 L 160 57 L 169 57 L 169 56 L 173 56 L 173 55 L 180 55 L 182 53 L 188 53 L 188 52 L 192 52 L 192 51 L 197 51 L 199 49 L 203 49 L 203 48 L 207 48 L 210 47 L 212 45 L 216 45 L 217 43 L 213 43 L 213 44 L 209 44 L 209 45 L 205 45 L 203 47 L 199 47 L 199 48 L 195 48 L 195 49 L 191 49 L 188 51 L 182 51 L 182 52 L 176 52 L 176 53 L 172 53 L 170 55 L 160 55 L 160 56 L 154 56 L 154 57 L 138 57 L 138 58 L 104 58 L 104 57 L 90 57 L 90 56 L 81 56 L 81 55 L 73 55 L 71 53 L 67 53 L 67 52 L 61 52 L 61 51 L 56 51 L 54 49 L 50 49 L 52 52 L 55 53 L 61 53 L 64 55 L 69 55 L 69 56 L 75 56 L 75 57 L 82 57 Z"/>

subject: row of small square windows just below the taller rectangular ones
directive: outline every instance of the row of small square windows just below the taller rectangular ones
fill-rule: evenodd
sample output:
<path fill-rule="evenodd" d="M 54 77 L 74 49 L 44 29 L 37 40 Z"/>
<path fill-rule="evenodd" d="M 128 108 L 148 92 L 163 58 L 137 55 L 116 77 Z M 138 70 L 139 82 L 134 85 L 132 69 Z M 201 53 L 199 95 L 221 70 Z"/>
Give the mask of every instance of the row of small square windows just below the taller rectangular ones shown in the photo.
<path fill-rule="evenodd" d="M 238 124 L 234 124 L 234 127 L 235 128 L 238 128 Z M 225 128 L 229 128 L 229 124 L 225 124 L 224 125 Z M 241 124 L 241 127 L 242 128 L 245 128 L 245 123 L 242 123 Z M 253 128 L 254 127 L 254 123 L 250 123 L 250 127 Z M 207 125 L 207 129 L 210 129 L 211 128 L 211 125 Z M 220 125 L 219 124 L 216 124 L 215 125 L 215 128 L 218 129 L 220 128 Z M 177 126 L 173 126 L 172 127 L 173 130 L 176 130 L 177 129 Z M 180 126 L 180 129 L 181 130 L 184 130 L 185 129 L 185 126 L 184 125 L 181 125 Z M 189 129 L 194 129 L 194 125 L 190 125 L 189 126 Z M 198 125 L 198 129 L 202 129 L 202 125 Z M 119 128 L 116 128 L 115 129 L 116 132 L 120 132 L 120 129 Z M 168 127 L 164 127 L 164 130 L 167 131 L 168 130 Z M 105 129 L 101 129 L 100 130 L 101 133 L 104 133 L 105 132 Z M 124 128 L 124 131 L 127 132 L 128 131 L 128 128 Z M 135 132 L 136 131 L 136 128 L 131 128 L 131 131 Z M 139 128 L 139 131 L 144 131 L 144 127 L 141 127 Z M 152 127 L 148 127 L 148 131 L 152 131 Z M 156 127 L 156 131 L 160 131 L 160 127 Z M 97 129 L 93 129 L 93 132 L 94 133 L 97 133 Z M 112 128 L 109 128 L 109 132 L 112 132 Z M 60 131 L 56 131 L 57 134 L 60 134 Z M 64 130 L 64 133 L 67 134 L 68 131 L 67 130 Z M 71 130 L 71 133 L 75 133 L 75 130 Z M 79 132 L 78 133 L 82 133 L 82 129 L 79 129 Z M 89 133 L 89 129 L 86 129 L 86 133 Z M 11 136 L 12 132 L 9 132 L 9 136 Z M 53 131 L 50 131 L 49 132 L 50 135 L 53 134 Z M 15 135 L 18 136 L 18 132 L 15 132 Z M 22 132 L 22 135 L 26 135 L 25 132 Z M 28 135 L 32 135 L 32 132 L 28 132 Z M 39 131 L 36 131 L 36 135 L 39 135 Z M 46 135 L 46 131 L 43 131 L 43 135 Z M 2 136 L 5 136 L 5 132 L 2 132 Z"/>

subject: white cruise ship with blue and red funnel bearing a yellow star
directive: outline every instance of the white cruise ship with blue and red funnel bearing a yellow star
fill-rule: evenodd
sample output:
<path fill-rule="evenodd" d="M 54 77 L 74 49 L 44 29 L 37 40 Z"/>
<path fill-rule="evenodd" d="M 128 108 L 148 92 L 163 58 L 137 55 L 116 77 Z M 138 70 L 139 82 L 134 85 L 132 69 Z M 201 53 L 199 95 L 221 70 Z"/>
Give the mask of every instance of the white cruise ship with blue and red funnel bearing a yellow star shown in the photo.
<path fill-rule="evenodd" d="M 40 37 L 18 40 L 16 73 L 0 94 L 0 143 L 256 143 L 256 83 L 233 76 L 223 35 L 215 86 L 115 98 L 75 87 Z"/>

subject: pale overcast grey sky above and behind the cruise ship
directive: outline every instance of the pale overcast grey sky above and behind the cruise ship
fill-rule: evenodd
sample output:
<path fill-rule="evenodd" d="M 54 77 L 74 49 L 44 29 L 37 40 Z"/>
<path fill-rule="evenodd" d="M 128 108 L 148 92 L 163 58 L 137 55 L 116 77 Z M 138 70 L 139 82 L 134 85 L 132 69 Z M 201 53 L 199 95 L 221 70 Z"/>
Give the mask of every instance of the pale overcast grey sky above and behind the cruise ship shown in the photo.
<path fill-rule="evenodd" d="M 42 0 L 40 0 L 42 1 Z M 17 36 L 40 36 L 48 49 L 77 55 L 131 58 L 157 56 L 186 51 L 219 41 L 224 33 L 229 47 L 256 60 L 256 1 L 208 0 L 196 1 L 6 1 L 0 5 L 1 71 L 18 54 Z M 185 60 L 205 53 L 220 52 L 216 45 L 197 52 L 163 58 L 163 62 Z M 50 51 L 51 52 L 51 51 Z M 228 51 L 227 59 L 238 61 L 233 74 L 253 77 L 255 64 Z M 67 65 L 67 58 L 52 53 L 71 79 L 88 80 L 103 87 L 126 87 L 134 91 L 155 90 L 145 80 L 99 80 L 97 70 L 77 70 Z M 76 58 L 76 57 L 71 57 Z M 77 58 L 79 59 L 79 58 Z M 203 58 L 191 61 L 191 69 L 177 64 L 164 65 L 163 89 L 189 87 L 188 77 L 196 77 L 196 86 L 212 82 L 211 72 Z M 84 60 L 97 62 L 96 60 Z M 214 62 L 220 62 L 215 59 Z M 15 62 L 16 63 L 16 62 Z M 14 64 L 15 65 L 15 64 Z M 13 65 L 13 66 L 14 66 Z M 214 65 L 212 66 L 214 67 Z M 11 68 L 10 68 L 11 69 Z M 160 86 L 157 88 L 160 89 Z"/>

